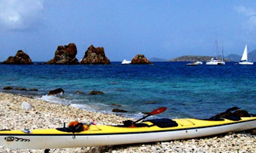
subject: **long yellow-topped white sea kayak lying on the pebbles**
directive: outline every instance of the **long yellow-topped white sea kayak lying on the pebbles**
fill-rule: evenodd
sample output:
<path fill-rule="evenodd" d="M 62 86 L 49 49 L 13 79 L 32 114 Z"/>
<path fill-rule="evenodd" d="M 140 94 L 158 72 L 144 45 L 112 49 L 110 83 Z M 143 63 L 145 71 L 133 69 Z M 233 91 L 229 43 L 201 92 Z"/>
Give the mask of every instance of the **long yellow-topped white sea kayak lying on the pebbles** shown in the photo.
<path fill-rule="evenodd" d="M 242 118 L 239 121 L 173 120 L 178 123 L 177 127 L 91 126 L 89 130 L 78 133 L 57 129 L 35 129 L 31 130 L 32 133 L 24 133 L 20 130 L 0 131 L 0 146 L 18 149 L 50 149 L 134 144 L 212 136 L 256 128 L 256 117 Z"/>

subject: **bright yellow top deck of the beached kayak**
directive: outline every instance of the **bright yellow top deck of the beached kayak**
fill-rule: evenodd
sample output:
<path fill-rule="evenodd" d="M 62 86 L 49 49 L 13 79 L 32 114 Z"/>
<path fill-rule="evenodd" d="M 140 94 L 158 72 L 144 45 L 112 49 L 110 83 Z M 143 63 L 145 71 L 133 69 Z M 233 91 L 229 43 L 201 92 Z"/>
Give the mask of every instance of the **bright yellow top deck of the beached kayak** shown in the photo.
<path fill-rule="evenodd" d="M 122 133 L 140 133 L 140 132 L 157 132 L 157 131 L 175 131 L 193 128 L 218 127 L 229 124 L 242 123 L 256 120 L 256 117 L 244 117 L 239 121 L 224 119 L 223 121 L 210 121 L 203 119 L 172 119 L 178 126 L 176 127 L 158 127 L 152 126 L 151 122 L 142 122 L 151 127 L 119 127 L 109 125 L 91 125 L 88 130 L 82 132 L 64 132 L 56 128 L 50 129 L 32 129 L 31 133 L 22 132 L 22 130 L 2 130 L 0 135 L 97 135 L 97 134 L 122 134 Z M 256 128 L 256 124 L 254 125 Z"/>

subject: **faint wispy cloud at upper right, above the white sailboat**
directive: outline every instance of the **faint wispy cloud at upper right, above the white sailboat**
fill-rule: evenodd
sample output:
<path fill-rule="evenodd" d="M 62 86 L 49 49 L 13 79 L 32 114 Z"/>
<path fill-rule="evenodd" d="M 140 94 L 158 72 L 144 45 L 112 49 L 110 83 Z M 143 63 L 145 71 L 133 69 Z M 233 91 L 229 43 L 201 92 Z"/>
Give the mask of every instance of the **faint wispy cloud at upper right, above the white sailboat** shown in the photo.
<path fill-rule="evenodd" d="M 241 15 L 244 15 L 247 19 L 246 26 L 249 30 L 256 29 L 256 11 L 252 8 L 246 8 L 244 6 L 239 6 L 235 8 L 237 12 Z"/>

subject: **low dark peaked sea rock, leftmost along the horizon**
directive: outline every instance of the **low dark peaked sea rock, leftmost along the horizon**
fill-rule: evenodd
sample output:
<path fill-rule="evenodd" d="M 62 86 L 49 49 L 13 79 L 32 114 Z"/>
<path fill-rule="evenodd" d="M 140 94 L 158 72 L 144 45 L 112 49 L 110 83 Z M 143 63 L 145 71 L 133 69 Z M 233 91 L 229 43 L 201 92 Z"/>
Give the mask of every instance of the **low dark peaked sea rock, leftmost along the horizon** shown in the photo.
<path fill-rule="evenodd" d="M 3 61 L 1 64 L 33 64 L 33 63 L 25 52 L 19 50 L 17 51 L 14 57 L 9 56 L 9 58 Z"/>

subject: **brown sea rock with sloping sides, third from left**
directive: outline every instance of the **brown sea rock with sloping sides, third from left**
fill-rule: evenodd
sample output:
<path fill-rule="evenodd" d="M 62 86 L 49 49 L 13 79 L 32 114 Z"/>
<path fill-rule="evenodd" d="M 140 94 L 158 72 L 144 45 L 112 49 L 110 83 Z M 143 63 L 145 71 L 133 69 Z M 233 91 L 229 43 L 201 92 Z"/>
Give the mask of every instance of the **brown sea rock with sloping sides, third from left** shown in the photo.
<path fill-rule="evenodd" d="M 85 51 L 80 64 L 110 64 L 110 59 L 106 57 L 103 47 L 95 48 L 91 45 Z"/>

